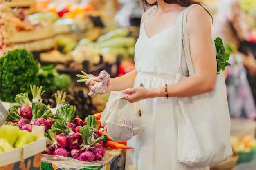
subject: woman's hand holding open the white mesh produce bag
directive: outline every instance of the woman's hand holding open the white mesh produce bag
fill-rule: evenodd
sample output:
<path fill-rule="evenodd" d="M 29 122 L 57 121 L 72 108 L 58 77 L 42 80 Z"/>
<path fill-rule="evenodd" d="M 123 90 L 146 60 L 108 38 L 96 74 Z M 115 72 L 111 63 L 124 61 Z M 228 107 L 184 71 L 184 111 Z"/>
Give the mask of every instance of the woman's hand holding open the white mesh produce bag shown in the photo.
<path fill-rule="evenodd" d="M 149 89 L 144 87 L 134 87 L 127 88 L 125 90 L 120 91 L 121 93 L 129 94 L 128 96 L 122 98 L 128 100 L 130 103 L 137 102 L 142 99 L 146 99 Z"/>

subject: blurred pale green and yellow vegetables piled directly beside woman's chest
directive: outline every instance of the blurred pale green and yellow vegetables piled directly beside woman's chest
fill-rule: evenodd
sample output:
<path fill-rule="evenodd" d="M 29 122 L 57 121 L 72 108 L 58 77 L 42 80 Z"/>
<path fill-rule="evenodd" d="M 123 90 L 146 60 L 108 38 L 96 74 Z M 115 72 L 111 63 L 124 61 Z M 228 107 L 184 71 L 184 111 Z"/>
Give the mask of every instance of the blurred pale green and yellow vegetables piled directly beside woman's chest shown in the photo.
<path fill-rule="evenodd" d="M 103 56 L 103 61 L 113 63 L 117 59 L 117 55 L 127 59 L 134 57 L 135 38 L 129 36 L 128 28 L 117 28 L 109 31 L 95 41 L 87 38 L 81 39 L 78 45 L 71 52 L 73 60 L 82 62 L 89 60 L 92 63 L 99 62 L 99 56 Z"/>

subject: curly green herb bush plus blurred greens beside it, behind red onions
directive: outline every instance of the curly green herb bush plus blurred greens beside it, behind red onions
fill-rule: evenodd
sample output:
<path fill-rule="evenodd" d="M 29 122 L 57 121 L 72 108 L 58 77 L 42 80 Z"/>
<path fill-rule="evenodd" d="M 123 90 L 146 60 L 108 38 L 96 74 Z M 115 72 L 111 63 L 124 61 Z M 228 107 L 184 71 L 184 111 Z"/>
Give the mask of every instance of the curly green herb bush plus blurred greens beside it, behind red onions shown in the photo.
<path fill-rule="evenodd" d="M 16 94 L 28 92 L 30 84 L 41 84 L 49 89 L 67 90 L 72 85 L 69 75 L 59 74 L 53 65 L 38 66 L 32 53 L 26 49 L 15 49 L 8 51 L 0 57 L 0 98 L 5 102 L 15 102 Z"/>

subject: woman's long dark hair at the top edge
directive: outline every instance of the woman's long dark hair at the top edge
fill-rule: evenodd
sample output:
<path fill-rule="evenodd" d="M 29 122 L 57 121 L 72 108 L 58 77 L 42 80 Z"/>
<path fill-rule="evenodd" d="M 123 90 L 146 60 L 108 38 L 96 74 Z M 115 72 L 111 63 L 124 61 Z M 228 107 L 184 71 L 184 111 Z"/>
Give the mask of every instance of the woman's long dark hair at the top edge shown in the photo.
<path fill-rule="evenodd" d="M 207 13 L 211 16 L 211 18 L 213 18 L 211 13 L 209 12 L 209 10 L 201 2 L 196 2 L 194 0 L 163 0 L 163 1 L 166 4 L 178 4 L 178 5 L 182 6 L 182 7 L 189 7 L 192 4 L 198 4 L 198 5 L 202 6 L 207 11 Z M 149 4 L 146 0 L 141 0 L 141 2 L 142 2 L 142 5 L 144 7 L 144 10 L 146 9 L 146 6 L 149 7 L 149 6 L 157 5 L 157 1 L 155 3 L 153 3 L 153 4 Z"/>

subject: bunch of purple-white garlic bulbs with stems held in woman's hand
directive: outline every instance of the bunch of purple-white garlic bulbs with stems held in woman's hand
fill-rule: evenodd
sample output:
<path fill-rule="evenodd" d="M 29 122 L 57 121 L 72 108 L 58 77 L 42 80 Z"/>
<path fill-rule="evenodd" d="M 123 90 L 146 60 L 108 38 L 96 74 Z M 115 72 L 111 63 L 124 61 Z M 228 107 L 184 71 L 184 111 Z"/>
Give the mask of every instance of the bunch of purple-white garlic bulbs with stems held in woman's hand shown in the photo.
<path fill-rule="evenodd" d="M 107 90 L 107 85 L 110 81 L 110 74 L 106 70 L 102 70 L 99 73 L 99 76 L 97 77 L 92 77 L 85 73 L 84 71 L 81 71 L 83 75 L 77 74 L 77 77 L 80 77 L 77 82 L 86 82 L 88 80 L 94 81 L 94 85 L 90 87 L 90 92 L 88 93 L 89 96 L 97 96 L 97 95 L 102 95 L 106 92 Z"/>

